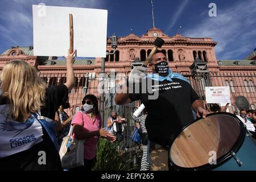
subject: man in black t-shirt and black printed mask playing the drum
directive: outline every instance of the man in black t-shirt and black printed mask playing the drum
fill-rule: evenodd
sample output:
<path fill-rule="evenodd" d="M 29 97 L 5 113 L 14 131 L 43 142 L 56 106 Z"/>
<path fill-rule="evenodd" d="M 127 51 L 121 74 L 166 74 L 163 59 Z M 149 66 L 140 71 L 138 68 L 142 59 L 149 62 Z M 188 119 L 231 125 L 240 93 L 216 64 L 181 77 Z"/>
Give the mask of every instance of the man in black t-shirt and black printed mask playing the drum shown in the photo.
<path fill-rule="evenodd" d="M 123 105 L 141 100 L 146 106 L 151 170 L 168 170 L 168 146 L 186 125 L 193 122 L 192 109 L 197 117 L 204 118 L 209 112 L 203 109 L 187 79 L 171 71 L 163 52 L 155 52 L 149 67 L 152 74 L 146 75 L 147 68 L 144 67 L 131 71 L 129 81 L 117 90 L 115 102 Z M 139 92 L 134 88 L 139 88 Z M 156 93 L 158 97 L 150 97 Z"/>

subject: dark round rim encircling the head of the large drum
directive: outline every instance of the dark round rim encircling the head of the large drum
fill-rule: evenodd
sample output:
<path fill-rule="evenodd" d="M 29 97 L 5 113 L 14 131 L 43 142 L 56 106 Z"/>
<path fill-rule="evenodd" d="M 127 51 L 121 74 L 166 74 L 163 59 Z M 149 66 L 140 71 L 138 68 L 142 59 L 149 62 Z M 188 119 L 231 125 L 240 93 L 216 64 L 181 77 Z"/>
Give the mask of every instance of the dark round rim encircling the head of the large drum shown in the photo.
<path fill-rule="evenodd" d="M 171 148 L 172 148 L 172 144 L 175 142 L 175 139 L 185 130 L 187 129 L 187 127 L 189 127 L 190 125 L 192 125 L 193 123 L 199 121 L 200 119 L 203 119 L 203 117 L 197 118 L 195 119 L 195 121 L 193 121 L 192 123 L 189 123 L 188 125 L 184 126 L 183 129 L 175 136 L 175 138 L 173 140 L 171 140 L 171 144 L 170 147 L 168 149 L 168 159 L 169 159 L 169 163 L 171 165 L 171 167 L 174 167 L 177 170 L 182 170 L 182 171 L 201 171 L 201 170 L 210 170 L 210 169 L 214 169 L 217 168 L 219 166 L 221 166 L 222 164 L 224 164 L 225 162 L 227 162 L 229 159 L 231 159 L 233 156 L 230 154 L 231 151 L 233 151 L 235 154 L 237 153 L 238 150 L 240 150 L 240 148 L 242 147 L 242 144 L 245 140 L 246 137 L 246 126 L 243 124 L 243 122 L 234 114 L 231 113 L 224 113 L 224 112 L 218 112 L 218 113 L 210 113 L 207 114 L 207 117 L 212 116 L 212 115 L 220 115 L 220 114 L 224 114 L 224 115 L 230 115 L 234 118 L 237 119 L 237 121 L 240 123 L 240 136 L 237 138 L 236 142 L 234 143 L 233 147 L 230 149 L 230 151 L 226 152 L 226 154 L 222 155 L 220 158 L 217 159 L 217 164 L 204 164 L 203 166 L 199 166 L 199 167 L 180 167 L 177 166 L 171 158 L 170 152 L 171 152 Z"/>

